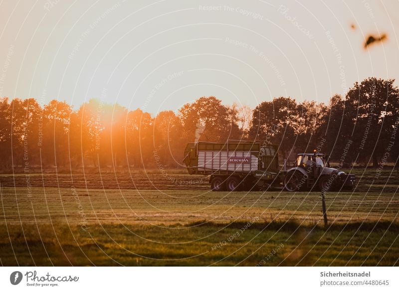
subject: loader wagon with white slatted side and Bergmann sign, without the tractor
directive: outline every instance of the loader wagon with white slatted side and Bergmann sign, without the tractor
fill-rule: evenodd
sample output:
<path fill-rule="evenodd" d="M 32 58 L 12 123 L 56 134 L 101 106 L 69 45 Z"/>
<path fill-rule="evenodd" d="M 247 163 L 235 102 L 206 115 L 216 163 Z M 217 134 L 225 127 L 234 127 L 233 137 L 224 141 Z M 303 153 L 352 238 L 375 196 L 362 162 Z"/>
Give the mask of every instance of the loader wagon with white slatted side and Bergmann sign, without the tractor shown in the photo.
<path fill-rule="evenodd" d="M 280 184 L 277 146 L 253 143 L 190 143 L 184 163 L 190 174 L 209 175 L 213 191 L 267 189 Z"/>

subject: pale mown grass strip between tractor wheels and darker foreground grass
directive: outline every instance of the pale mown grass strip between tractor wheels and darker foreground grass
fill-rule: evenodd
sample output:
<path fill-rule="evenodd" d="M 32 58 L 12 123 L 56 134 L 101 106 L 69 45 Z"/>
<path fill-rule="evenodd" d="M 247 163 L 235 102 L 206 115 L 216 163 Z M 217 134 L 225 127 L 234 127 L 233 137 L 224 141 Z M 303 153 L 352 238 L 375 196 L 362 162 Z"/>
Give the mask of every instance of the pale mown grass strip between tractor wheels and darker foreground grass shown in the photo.
<path fill-rule="evenodd" d="M 22 190 L 22 191 L 21 191 Z M 31 197 L 20 188 L 3 188 L 0 217 L 20 221 L 76 224 L 137 223 L 187 224 L 205 220 L 319 223 L 321 199 L 317 192 L 212 192 L 178 190 L 94 190 L 32 188 Z M 399 222 L 398 193 L 329 192 L 328 217 L 334 223 Z"/>

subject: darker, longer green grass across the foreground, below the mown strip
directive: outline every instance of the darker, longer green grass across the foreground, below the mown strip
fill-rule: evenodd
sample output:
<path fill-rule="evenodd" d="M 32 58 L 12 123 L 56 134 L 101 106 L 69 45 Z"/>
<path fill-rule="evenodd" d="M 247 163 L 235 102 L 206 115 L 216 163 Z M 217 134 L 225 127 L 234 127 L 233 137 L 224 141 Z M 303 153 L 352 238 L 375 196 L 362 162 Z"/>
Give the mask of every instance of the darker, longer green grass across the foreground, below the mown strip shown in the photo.
<path fill-rule="evenodd" d="M 398 266 L 398 225 L 328 231 L 297 222 L 197 227 L 14 226 L 0 242 L 6 266 Z M 2 230 L 3 231 L 3 230 Z M 235 234 L 235 237 L 234 237 Z M 11 245 L 11 243 L 12 245 Z M 15 253 L 15 255 L 14 255 Z"/>

